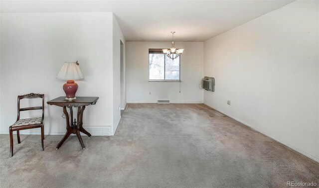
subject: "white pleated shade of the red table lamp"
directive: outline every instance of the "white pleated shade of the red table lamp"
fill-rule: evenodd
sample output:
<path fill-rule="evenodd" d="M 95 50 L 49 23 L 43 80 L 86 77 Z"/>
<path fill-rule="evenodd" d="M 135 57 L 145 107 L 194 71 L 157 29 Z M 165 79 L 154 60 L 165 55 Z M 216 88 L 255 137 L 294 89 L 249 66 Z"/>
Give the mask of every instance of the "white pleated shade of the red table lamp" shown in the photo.
<path fill-rule="evenodd" d="M 61 80 L 82 80 L 84 77 L 77 62 L 65 62 L 56 78 Z"/>

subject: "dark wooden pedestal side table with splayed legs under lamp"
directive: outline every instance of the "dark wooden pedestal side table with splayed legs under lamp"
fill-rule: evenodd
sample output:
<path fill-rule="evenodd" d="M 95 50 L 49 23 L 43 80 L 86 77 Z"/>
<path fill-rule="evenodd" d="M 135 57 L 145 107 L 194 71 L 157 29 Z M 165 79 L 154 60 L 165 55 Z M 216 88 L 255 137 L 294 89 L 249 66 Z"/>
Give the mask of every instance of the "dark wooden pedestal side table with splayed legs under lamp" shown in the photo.
<path fill-rule="evenodd" d="M 76 134 L 81 144 L 81 147 L 85 149 L 82 137 L 80 132 L 88 135 L 89 138 L 91 134 L 83 128 L 83 111 L 85 106 L 95 104 L 98 101 L 99 97 L 90 97 L 90 96 L 77 96 L 74 100 L 66 100 L 65 96 L 60 96 L 54 98 L 53 100 L 47 101 L 47 104 L 56 105 L 63 107 L 63 113 L 65 114 L 66 119 L 66 133 L 60 143 L 56 146 L 56 149 L 59 149 L 65 140 L 70 136 L 70 134 Z M 70 117 L 66 108 L 70 109 Z M 73 121 L 73 107 L 78 107 L 77 118 Z"/>

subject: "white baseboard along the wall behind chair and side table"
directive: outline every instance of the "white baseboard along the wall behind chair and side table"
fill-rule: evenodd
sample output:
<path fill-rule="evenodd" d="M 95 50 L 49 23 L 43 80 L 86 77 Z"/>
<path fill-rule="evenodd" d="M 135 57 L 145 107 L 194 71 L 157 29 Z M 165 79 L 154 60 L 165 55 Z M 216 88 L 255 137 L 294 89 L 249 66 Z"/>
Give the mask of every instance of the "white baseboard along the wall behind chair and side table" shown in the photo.
<path fill-rule="evenodd" d="M 111 126 L 83 126 L 85 130 L 87 130 L 92 136 L 111 136 Z M 46 127 L 44 127 L 45 135 L 64 135 L 65 132 L 45 132 Z M 0 131 L 0 134 L 9 134 L 8 131 Z M 13 131 L 13 134 L 16 134 L 16 131 Z M 40 135 L 40 129 L 27 129 L 20 130 L 20 134 L 27 135 Z M 81 133 L 81 135 L 86 135 Z M 113 134 L 114 135 L 114 134 Z"/>

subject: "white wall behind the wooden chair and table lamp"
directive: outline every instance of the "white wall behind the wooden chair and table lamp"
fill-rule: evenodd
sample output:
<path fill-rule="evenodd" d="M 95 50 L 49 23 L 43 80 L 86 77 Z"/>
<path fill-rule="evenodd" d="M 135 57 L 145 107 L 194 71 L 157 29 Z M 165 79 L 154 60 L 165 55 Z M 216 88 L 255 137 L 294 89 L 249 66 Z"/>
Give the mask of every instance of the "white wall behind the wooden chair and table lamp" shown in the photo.
<path fill-rule="evenodd" d="M 112 26 L 113 14 L 108 12 L 1 13 L 0 133 L 8 134 L 8 127 L 16 119 L 17 95 L 41 93 L 45 94 L 45 102 L 65 95 L 65 81 L 56 79 L 56 75 L 63 62 L 78 60 L 84 80 L 76 81 L 77 96 L 100 97 L 96 105 L 85 109 L 84 126 L 93 135 L 110 135 Z M 61 115 L 61 107 L 45 105 L 45 134 L 65 133 Z"/>

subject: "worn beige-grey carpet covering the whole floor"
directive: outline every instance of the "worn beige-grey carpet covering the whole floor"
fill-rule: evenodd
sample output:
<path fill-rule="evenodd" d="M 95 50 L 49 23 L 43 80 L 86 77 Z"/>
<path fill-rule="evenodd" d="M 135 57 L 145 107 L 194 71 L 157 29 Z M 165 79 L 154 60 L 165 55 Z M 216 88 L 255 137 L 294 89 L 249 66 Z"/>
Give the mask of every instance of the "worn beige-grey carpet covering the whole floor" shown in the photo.
<path fill-rule="evenodd" d="M 115 136 L 0 135 L 1 188 L 266 188 L 319 164 L 203 104 L 129 104 Z"/>

